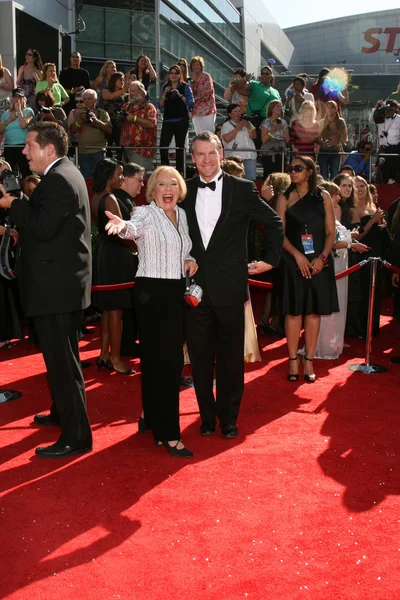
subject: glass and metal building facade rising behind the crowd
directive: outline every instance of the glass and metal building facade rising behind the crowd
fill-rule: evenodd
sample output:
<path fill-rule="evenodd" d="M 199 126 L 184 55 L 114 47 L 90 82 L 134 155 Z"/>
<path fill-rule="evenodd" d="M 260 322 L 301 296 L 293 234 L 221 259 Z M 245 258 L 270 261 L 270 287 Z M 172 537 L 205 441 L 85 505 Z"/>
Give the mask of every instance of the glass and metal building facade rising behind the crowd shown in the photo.
<path fill-rule="evenodd" d="M 200 55 L 222 98 L 232 71 L 244 66 L 241 15 L 229 0 L 84 0 L 80 17 L 76 47 L 92 79 L 106 60 L 126 72 L 146 54 L 163 80 L 179 58 Z"/>

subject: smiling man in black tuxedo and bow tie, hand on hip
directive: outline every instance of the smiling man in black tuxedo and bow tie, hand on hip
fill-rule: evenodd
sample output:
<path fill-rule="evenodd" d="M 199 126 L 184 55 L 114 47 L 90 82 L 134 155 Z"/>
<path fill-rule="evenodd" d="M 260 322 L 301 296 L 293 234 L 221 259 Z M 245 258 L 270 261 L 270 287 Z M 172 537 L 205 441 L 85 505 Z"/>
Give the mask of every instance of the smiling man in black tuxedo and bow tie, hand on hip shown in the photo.
<path fill-rule="evenodd" d="M 244 389 L 244 303 L 247 277 L 279 263 L 282 221 L 257 194 L 254 183 L 222 173 L 219 138 L 202 132 L 192 143 L 199 177 L 187 183 L 183 207 L 197 260 L 196 283 L 203 288 L 199 306 L 186 316 L 186 337 L 199 403 L 202 435 L 215 433 L 217 418 L 224 437 L 237 436 Z M 248 264 L 250 220 L 265 227 L 263 261 Z M 213 393 L 214 360 L 217 389 Z"/>

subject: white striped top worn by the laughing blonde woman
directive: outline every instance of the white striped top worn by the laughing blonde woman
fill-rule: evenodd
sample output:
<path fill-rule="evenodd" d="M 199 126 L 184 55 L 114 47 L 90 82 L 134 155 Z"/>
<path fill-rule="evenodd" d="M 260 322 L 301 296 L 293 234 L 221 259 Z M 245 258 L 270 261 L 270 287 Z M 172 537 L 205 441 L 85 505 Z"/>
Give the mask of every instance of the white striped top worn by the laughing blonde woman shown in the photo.
<path fill-rule="evenodd" d="M 181 279 L 184 261 L 194 260 L 189 254 L 192 241 L 185 211 L 176 206 L 175 212 L 177 228 L 155 202 L 134 209 L 120 237 L 136 241 L 139 257 L 136 277 Z"/>

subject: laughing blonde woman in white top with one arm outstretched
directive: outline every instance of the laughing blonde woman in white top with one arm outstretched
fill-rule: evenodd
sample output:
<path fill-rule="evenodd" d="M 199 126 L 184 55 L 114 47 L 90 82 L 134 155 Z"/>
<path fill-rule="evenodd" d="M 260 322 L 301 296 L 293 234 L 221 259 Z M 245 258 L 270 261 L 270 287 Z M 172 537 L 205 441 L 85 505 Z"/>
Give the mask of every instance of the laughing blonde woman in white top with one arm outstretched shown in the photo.
<path fill-rule="evenodd" d="M 146 191 L 148 206 L 130 221 L 106 211 L 108 233 L 135 240 L 139 266 L 134 288 L 139 328 L 142 402 L 140 431 L 151 429 L 156 445 L 190 457 L 181 440 L 179 388 L 183 368 L 184 275 L 197 271 L 185 211 L 177 206 L 186 184 L 172 167 L 159 167 Z"/>

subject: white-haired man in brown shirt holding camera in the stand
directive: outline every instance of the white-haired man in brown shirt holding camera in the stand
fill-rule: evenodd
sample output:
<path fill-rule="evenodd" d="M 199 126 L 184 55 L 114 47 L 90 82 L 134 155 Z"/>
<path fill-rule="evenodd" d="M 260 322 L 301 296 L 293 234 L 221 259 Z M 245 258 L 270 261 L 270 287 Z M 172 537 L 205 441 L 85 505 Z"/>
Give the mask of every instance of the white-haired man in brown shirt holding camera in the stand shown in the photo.
<path fill-rule="evenodd" d="M 97 163 L 106 156 L 106 136 L 112 125 L 108 112 L 96 106 L 94 90 L 85 90 L 82 97 L 84 108 L 75 111 L 76 121 L 69 130 L 71 135 L 79 133 L 79 167 L 84 178 L 90 179 Z"/>

